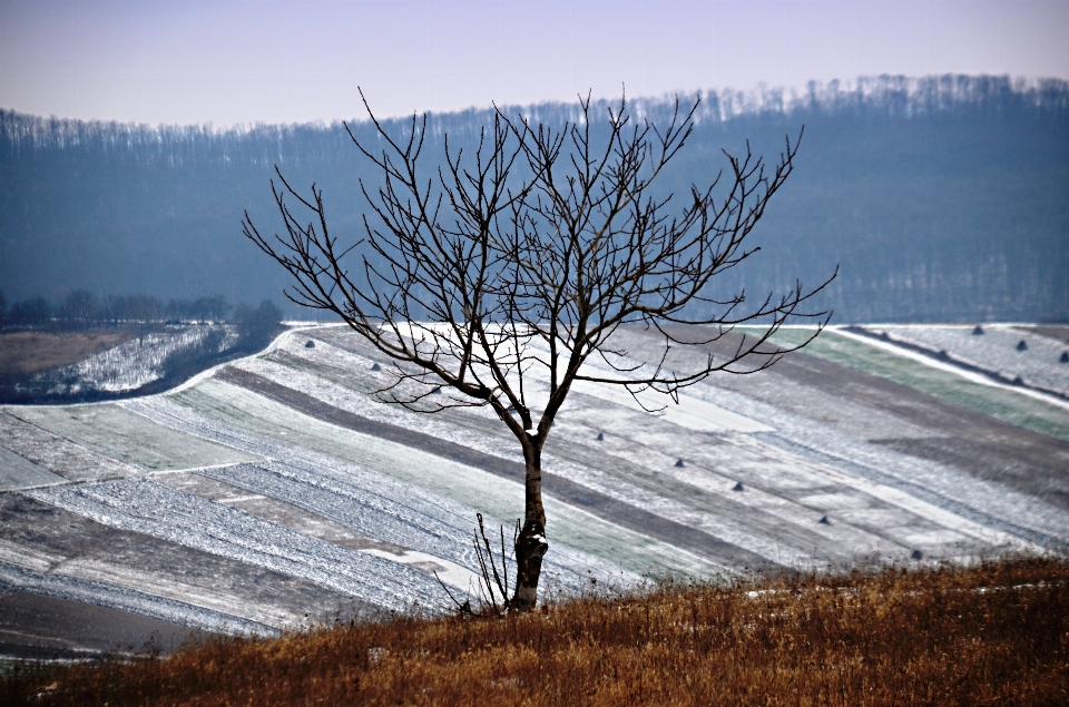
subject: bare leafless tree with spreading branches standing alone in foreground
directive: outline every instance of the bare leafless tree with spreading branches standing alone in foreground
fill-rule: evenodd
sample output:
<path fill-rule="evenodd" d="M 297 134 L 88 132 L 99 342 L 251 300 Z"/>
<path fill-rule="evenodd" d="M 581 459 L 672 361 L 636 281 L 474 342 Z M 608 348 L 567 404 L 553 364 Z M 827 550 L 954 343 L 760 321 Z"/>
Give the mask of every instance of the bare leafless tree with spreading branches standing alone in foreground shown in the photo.
<path fill-rule="evenodd" d="M 294 303 L 337 314 L 394 361 L 396 383 L 380 400 L 420 412 L 489 406 L 516 435 L 526 503 L 512 611 L 537 601 L 549 548 L 542 449 L 575 382 L 675 397 L 714 372 L 775 363 L 784 351 L 762 345 L 791 316 L 816 321 L 817 331 L 827 323 L 827 313 L 800 305 L 831 279 L 755 304 L 745 292 L 716 298 L 710 286 L 756 251 L 744 242 L 791 174 L 797 140 L 786 138 L 774 166 L 748 145 L 744 156 L 725 153 L 726 171 L 679 200 L 655 187 L 693 132 L 697 102 L 677 99 L 667 125 L 636 119 L 624 100 L 604 115 L 589 97 L 579 108 L 559 128 L 498 109 L 478 147 L 465 154 L 447 136 L 444 161 L 430 170 L 421 161 L 426 117 L 413 116 L 399 139 L 369 108 L 374 141 L 346 126 L 381 177 L 375 187 L 361 181 L 365 239 L 332 235 L 322 189 L 313 184 L 303 196 L 277 167 L 272 189 L 285 233 L 264 237 L 247 213 L 243 223 L 294 277 Z M 664 365 L 681 343 L 679 325 L 710 327 L 712 341 L 743 323 L 764 333 L 695 371 Z M 656 332 L 660 359 L 628 360 L 612 343 L 625 325 Z M 431 396 L 439 392 L 447 394 Z"/>

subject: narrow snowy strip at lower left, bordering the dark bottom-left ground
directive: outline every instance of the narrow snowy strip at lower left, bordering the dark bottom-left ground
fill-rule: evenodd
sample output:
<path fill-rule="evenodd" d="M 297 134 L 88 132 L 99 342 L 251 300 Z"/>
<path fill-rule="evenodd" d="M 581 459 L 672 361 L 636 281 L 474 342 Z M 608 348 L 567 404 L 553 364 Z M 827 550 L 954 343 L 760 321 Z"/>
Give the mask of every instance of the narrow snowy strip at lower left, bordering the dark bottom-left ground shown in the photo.
<path fill-rule="evenodd" d="M 95 579 L 46 575 L 3 560 L 0 560 L 0 588 L 6 591 L 29 591 L 47 597 L 121 609 L 214 634 L 253 636 L 277 636 L 279 634 L 277 629 L 263 623 L 184 601 L 154 597 L 135 589 Z"/>

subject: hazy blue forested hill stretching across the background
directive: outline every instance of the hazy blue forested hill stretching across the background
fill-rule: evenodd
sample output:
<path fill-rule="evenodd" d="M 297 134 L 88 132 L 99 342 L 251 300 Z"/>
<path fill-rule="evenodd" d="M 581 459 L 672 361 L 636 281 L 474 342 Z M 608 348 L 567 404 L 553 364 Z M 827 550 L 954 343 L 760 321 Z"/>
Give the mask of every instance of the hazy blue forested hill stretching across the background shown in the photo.
<path fill-rule="evenodd" d="M 560 124 L 576 106 L 509 110 Z M 490 117 L 432 115 L 429 156 L 445 132 L 472 146 Z M 725 287 L 763 295 L 840 264 L 821 301 L 836 322 L 1069 321 L 1069 84 L 881 77 L 792 97 L 708 94 L 669 186 L 707 179 L 722 148 L 747 139 L 775 158 L 803 125 L 796 171 L 754 234 L 763 251 Z M 324 188 L 335 233 L 359 235 L 356 179 L 376 175 L 341 124 L 212 131 L 0 111 L 0 288 L 9 303 L 76 288 L 278 301 L 281 268 L 239 227 L 245 209 L 277 224 L 276 164 Z"/>

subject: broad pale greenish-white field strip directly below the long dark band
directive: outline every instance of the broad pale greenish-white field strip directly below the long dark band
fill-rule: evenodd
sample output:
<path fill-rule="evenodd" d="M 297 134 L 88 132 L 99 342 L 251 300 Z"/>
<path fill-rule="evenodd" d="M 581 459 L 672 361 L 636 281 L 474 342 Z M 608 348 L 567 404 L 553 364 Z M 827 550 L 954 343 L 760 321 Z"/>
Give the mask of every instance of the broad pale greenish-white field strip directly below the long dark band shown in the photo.
<path fill-rule="evenodd" d="M 157 397 L 126 405 L 154 420 L 273 460 L 269 464 L 224 467 L 203 473 L 341 520 L 380 540 L 474 568 L 468 538 L 475 512 L 483 513 L 496 527 L 507 524 L 510 517 L 516 517 L 516 509 L 522 508 L 522 487 L 517 481 L 339 429 L 234 385 L 208 381 L 175 397 L 180 404 Z M 597 570 L 608 579 L 620 572 L 620 564 L 632 568 L 632 572 L 709 569 L 698 558 L 549 499 L 547 512 L 555 511 L 562 541 L 590 551 L 573 572 L 576 577 L 585 578 L 587 570 Z M 455 556 L 458 552 L 461 554 Z M 569 557 L 565 548 L 561 553 Z M 607 561 L 598 562 L 598 556 Z M 552 563 L 553 558 L 548 561 Z"/>

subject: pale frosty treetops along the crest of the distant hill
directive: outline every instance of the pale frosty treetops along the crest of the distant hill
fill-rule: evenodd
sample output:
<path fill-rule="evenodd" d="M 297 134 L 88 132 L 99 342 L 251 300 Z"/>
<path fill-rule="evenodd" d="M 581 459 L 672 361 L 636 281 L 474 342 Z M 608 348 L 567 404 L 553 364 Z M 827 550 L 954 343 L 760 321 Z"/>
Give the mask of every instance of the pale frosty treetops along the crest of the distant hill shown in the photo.
<path fill-rule="evenodd" d="M 717 124 L 744 116 L 843 114 L 874 117 L 922 117 L 952 115 L 1066 115 L 1069 112 L 1069 81 L 1061 79 L 1011 79 L 1009 76 L 945 75 L 912 78 L 906 76 L 862 77 L 854 82 L 811 81 L 805 91 L 759 87 L 751 91 L 720 89 L 698 91 L 703 102 L 695 111 L 695 122 Z M 673 96 L 631 98 L 636 116 L 670 112 Z M 595 100 L 598 109 L 608 107 L 606 99 Z M 573 102 L 547 101 L 531 106 L 508 106 L 508 112 L 520 112 L 536 120 L 575 121 L 579 111 Z M 442 127 L 464 124 L 487 125 L 491 108 L 468 109 L 449 114 L 430 114 L 434 132 Z M 366 118 L 350 121 L 361 125 Z M 406 119 L 384 120 L 403 128 Z M 441 124 L 434 125 L 434 124 Z M 228 148 L 238 145 L 281 145 L 322 132 L 342 131 L 342 122 L 306 122 L 291 125 L 243 125 L 215 129 L 207 125 L 160 125 L 43 118 L 0 108 L 0 147 L 19 153 L 24 149 L 69 149 L 88 147 L 101 151 L 130 150 L 146 157 L 170 156 L 176 149 L 190 155 L 217 151 L 224 161 Z"/>

